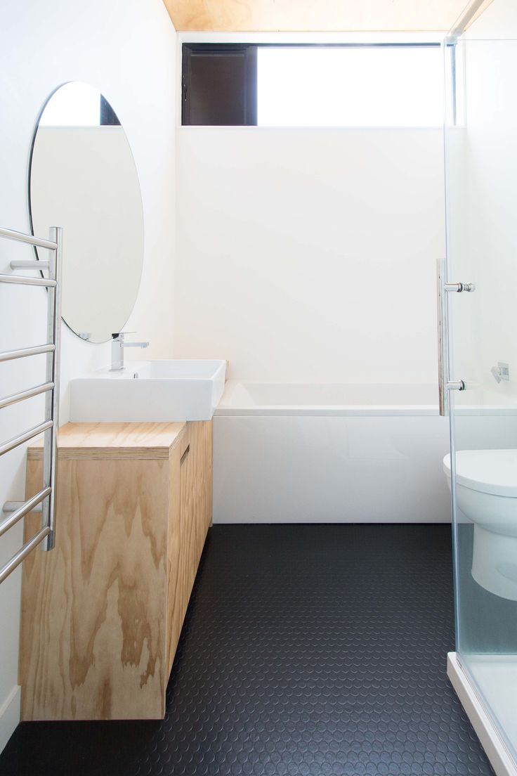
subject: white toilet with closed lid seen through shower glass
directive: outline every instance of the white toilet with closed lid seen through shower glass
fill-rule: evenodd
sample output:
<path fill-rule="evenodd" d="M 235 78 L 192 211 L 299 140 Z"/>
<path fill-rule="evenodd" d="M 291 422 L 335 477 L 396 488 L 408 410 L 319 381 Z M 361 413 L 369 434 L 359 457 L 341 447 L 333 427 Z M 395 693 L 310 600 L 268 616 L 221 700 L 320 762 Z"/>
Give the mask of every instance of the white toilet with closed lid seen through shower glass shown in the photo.
<path fill-rule="evenodd" d="M 450 455 L 443 471 L 450 487 Z M 456 504 L 474 522 L 474 580 L 517 601 L 517 450 L 458 450 Z"/>

